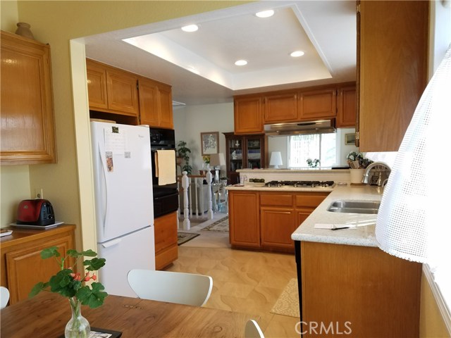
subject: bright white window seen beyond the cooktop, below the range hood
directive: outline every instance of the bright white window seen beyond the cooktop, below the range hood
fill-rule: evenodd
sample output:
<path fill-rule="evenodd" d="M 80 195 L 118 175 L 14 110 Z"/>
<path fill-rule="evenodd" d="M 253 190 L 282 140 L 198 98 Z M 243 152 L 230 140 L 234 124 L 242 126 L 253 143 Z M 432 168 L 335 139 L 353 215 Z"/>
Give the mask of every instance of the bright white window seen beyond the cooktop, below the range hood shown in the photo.
<path fill-rule="evenodd" d="M 295 135 L 288 138 L 288 168 L 307 167 L 307 159 L 318 158 L 321 167 L 337 163 L 337 134 Z"/>

